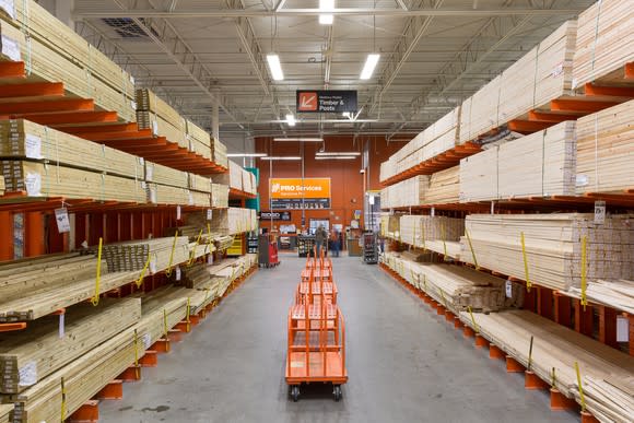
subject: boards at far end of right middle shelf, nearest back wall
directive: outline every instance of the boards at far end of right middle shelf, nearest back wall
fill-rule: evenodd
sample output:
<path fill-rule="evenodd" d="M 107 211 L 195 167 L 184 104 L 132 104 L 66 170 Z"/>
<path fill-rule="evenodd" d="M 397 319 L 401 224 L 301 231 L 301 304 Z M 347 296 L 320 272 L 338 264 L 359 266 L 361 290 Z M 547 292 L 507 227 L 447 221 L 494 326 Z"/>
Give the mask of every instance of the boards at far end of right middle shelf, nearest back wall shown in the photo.
<path fill-rule="evenodd" d="M 397 209 L 458 202 L 460 166 L 431 176 L 419 175 L 380 191 L 380 207 Z"/>

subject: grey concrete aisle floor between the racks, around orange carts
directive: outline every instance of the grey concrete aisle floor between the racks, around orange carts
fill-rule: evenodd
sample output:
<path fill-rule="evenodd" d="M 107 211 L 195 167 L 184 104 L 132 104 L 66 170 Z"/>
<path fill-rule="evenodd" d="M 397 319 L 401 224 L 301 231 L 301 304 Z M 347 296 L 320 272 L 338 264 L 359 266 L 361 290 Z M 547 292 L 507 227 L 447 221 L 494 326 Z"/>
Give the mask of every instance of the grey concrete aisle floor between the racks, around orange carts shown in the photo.
<path fill-rule="evenodd" d="M 577 422 L 551 412 L 472 341 L 428 312 L 377 266 L 334 260 L 347 319 L 348 372 L 341 402 L 331 388 L 284 383 L 286 313 L 304 259 L 282 255 L 231 294 L 202 325 L 104 401 L 102 422 Z"/>

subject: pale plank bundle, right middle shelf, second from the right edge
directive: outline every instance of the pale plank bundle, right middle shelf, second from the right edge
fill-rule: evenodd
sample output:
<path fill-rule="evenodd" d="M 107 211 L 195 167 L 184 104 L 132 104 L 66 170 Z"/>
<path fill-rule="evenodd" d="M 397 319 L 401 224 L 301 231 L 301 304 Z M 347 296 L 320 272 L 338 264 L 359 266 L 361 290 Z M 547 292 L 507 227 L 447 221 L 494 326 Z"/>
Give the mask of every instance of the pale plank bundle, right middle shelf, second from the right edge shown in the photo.
<path fill-rule="evenodd" d="M 574 196 L 575 122 L 492 145 L 460 161 L 460 202 Z"/>

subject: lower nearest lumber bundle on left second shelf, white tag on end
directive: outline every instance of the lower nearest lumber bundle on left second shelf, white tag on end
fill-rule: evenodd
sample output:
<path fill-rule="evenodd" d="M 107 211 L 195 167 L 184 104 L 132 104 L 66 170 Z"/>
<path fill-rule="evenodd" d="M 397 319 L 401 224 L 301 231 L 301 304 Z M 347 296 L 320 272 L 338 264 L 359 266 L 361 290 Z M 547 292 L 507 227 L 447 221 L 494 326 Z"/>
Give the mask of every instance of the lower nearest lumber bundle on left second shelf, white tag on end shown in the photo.
<path fill-rule="evenodd" d="M 7 191 L 31 198 L 63 197 L 97 201 L 145 202 L 142 181 L 57 164 L 0 161 Z"/>

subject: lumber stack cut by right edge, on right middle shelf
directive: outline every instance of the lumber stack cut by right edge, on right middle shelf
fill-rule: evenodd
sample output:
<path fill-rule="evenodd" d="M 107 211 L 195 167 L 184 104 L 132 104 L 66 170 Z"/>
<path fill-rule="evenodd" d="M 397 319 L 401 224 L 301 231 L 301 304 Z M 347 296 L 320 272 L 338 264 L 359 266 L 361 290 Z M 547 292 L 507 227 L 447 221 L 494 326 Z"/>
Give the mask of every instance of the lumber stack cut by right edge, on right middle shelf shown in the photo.
<path fill-rule="evenodd" d="M 577 193 L 634 188 L 634 101 L 577 120 Z"/>

